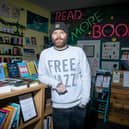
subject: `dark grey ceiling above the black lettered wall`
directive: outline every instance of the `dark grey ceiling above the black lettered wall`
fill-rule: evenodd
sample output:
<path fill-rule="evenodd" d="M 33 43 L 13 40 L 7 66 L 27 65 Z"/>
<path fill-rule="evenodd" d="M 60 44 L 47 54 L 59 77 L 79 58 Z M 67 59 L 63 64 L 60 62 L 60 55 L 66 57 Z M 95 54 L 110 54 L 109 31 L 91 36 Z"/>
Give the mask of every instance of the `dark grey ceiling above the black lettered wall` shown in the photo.
<path fill-rule="evenodd" d="M 129 0 L 28 0 L 50 11 L 78 9 L 129 2 Z"/>

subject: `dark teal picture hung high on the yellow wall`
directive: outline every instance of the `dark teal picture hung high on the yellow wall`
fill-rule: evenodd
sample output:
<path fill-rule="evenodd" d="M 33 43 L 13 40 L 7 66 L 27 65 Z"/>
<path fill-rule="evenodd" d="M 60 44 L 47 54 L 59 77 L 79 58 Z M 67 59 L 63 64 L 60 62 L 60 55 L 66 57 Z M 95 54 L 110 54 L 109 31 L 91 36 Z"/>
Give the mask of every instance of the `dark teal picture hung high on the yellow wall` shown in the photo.
<path fill-rule="evenodd" d="M 48 33 L 48 18 L 27 11 L 27 28 Z"/>

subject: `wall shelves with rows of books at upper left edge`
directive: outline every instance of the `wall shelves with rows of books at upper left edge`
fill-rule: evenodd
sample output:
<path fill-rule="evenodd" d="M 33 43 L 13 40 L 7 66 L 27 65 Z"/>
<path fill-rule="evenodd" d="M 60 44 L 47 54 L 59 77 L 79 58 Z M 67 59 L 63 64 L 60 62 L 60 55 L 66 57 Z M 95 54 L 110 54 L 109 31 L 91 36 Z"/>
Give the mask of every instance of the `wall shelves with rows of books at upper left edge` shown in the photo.
<path fill-rule="evenodd" d="M 0 62 L 22 60 L 24 26 L 0 18 Z"/>

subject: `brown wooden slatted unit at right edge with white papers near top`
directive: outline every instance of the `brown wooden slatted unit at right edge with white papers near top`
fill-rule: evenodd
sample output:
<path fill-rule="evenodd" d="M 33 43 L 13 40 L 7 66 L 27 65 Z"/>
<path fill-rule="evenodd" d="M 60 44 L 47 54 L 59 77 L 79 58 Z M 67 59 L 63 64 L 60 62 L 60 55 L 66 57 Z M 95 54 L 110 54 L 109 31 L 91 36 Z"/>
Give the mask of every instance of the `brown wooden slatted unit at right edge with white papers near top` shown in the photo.
<path fill-rule="evenodd" d="M 127 76 L 124 76 L 127 75 Z M 129 71 L 113 71 L 109 120 L 129 126 Z M 127 81 L 127 82 L 126 82 Z M 127 85 L 125 85 L 127 84 Z M 125 86 L 124 86 L 125 85 Z"/>

